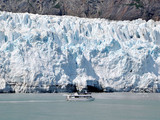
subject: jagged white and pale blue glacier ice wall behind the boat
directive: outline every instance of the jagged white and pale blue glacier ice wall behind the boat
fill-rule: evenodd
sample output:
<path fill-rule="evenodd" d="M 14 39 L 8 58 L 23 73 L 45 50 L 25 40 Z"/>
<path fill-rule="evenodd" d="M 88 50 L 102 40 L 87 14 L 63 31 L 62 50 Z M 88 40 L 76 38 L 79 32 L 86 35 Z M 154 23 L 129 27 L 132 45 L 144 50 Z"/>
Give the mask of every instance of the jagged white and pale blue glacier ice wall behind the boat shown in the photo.
<path fill-rule="evenodd" d="M 0 12 L 1 90 L 98 83 L 159 92 L 159 61 L 160 22 Z"/>

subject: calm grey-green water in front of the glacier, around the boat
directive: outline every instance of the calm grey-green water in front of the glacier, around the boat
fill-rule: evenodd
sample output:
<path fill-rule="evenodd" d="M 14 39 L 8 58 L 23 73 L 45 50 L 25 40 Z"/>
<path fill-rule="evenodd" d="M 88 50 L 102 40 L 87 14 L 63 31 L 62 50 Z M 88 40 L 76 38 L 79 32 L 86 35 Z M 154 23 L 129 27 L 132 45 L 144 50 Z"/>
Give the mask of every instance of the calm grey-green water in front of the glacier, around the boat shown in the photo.
<path fill-rule="evenodd" d="M 160 120 L 160 94 L 92 95 L 68 102 L 64 94 L 0 94 L 0 120 Z"/>

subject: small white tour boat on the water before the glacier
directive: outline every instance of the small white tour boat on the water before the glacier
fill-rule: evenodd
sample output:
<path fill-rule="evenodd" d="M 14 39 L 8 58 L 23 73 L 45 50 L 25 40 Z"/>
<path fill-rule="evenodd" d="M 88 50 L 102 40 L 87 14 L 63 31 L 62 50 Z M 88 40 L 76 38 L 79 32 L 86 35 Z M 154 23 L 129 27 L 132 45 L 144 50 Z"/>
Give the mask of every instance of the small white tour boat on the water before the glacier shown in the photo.
<path fill-rule="evenodd" d="M 67 95 L 67 101 L 94 101 L 95 98 L 91 96 L 91 94 L 71 94 Z"/>

